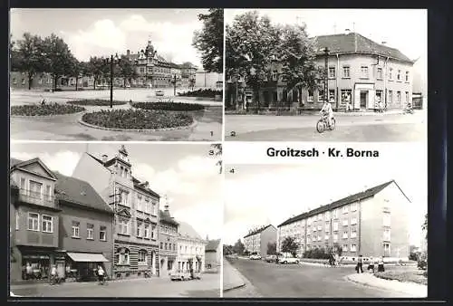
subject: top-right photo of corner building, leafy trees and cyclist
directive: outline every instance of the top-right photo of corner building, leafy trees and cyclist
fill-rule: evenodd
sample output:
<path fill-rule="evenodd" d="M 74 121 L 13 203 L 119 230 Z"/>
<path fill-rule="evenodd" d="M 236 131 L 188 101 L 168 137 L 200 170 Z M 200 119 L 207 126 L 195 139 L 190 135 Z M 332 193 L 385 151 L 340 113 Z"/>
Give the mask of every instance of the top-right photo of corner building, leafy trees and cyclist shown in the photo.
<path fill-rule="evenodd" d="M 226 141 L 426 141 L 427 10 L 226 9 L 225 23 Z"/>

